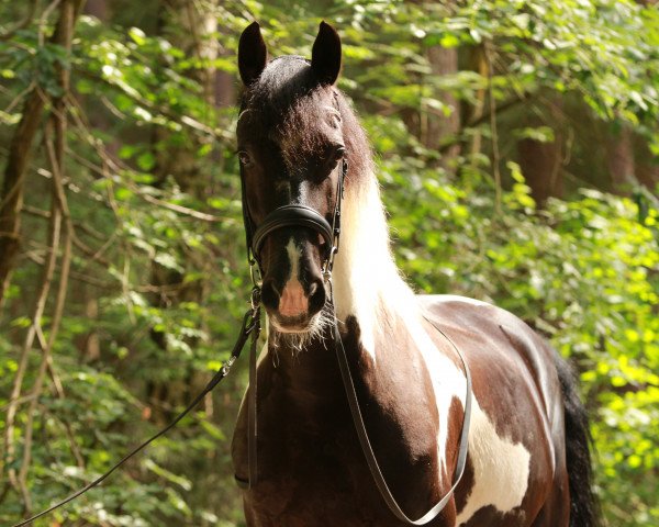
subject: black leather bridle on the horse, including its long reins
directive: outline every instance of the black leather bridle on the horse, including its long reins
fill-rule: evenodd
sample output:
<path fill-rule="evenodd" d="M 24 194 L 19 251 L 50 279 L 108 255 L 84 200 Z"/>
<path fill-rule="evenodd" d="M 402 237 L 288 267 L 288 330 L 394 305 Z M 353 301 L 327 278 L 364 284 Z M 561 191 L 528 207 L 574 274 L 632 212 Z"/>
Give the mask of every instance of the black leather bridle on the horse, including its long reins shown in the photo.
<path fill-rule="evenodd" d="M 335 93 L 336 98 L 336 93 Z M 465 357 L 458 349 L 458 347 L 454 344 L 454 341 L 446 335 L 435 322 L 426 316 L 426 319 L 429 324 L 432 324 L 440 335 L 446 338 L 446 340 L 450 344 L 457 355 L 460 357 L 462 361 L 462 367 L 465 369 L 466 375 L 466 386 L 467 386 L 467 395 L 465 399 L 465 418 L 462 419 L 462 429 L 460 433 L 460 447 L 458 450 L 458 458 L 456 462 L 456 470 L 454 472 L 454 480 L 450 490 L 434 505 L 426 514 L 424 514 L 418 519 L 409 518 L 405 513 L 401 509 L 398 502 L 393 497 L 389 485 L 387 484 L 384 476 L 382 475 L 382 471 L 380 470 L 379 463 L 377 461 L 376 455 L 373 452 L 371 442 L 368 438 L 368 433 L 366 430 L 366 425 L 364 423 L 364 417 L 361 415 L 361 410 L 359 407 L 359 401 L 357 399 L 357 392 L 355 390 L 355 383 L 353 381 L 353 377 L 350 373 L 350 368 L 348 365 L 348 359 L 346 355 L 346 350 L 343 345 L 343 339 L 340 336 L 340 332 L 338 328 L 338 319 L 336 317 L 336 310 L 334 305 L 334 299 L 332 293 L 332 270 L 334 266 L 334 258 L 339 247 L 339 237 L 340 237 L 340 211 L 342 203 L 344 199 L 344 184 L 345 179 L 348 172 L 348 161 L 344 157 L 338 165 L 339 173 L 337 178 L 336 186 L 336 200 L 332 215 L 332 224 L 327 222 L 327 220 L 320 214 L 316 210 L 303 205 L 303 204 L 287 204 L 283 206 L 279 206 L 270 212 L 266 218 L 260 223 L 260 225 L 256 226 L 252 214 L 249 212 L 249 205 L 247 202 L 247 191 L 245 184 L 245 177 L 243 173 L 243 167 L 241 167 L 241 192 L 243 200 L 243 220 L 245 223 L 245 236 L 246 236 L 246 245 L 247 245 L 247 259 L 249 264 L 252 280 L 253 280 L 253 289 L 252 289 L 252 298 L 250 298 L 250 307 L 247 310 L 243 317 L 243 324 L 241 326 L 241 332 L 238 334 L 238 338 L 233 347 L 230 358 L 227 361 L 217 370 L 217 372 L 213 375 L 213 378 L 209 381 L 202 392 L 197 395 L 192 400 L 192 402 L 188 405 L 183 412 L 181 412 L 169 425 L 163 428 L 160 431 L 152 436 L 149 439 L 144 441 L 138 447 L 134 448 L 131 452 L 124 456 L 120 461 L 114 463 L 104 474 L 97 478 L 82 489 L 76 491 L 70 494 L 66 498 L 51 506 L 49 508 L 42 511 L 41 513 L 24 519 L 18 524 L 14 524 L 12 527 L 22 527 L 24 525 L 29 525 L 37 518 L 49 514 L 56 508 L 66 505 L 67 503 L 74 501 L 80 495 L 85 494 L 87 491 L 98 486 L 102 483 L 107 478 L 110 476 L 119 467 L 121 467 L 124 462 L 135 456 L 137 452 L 142 451 L 154 440 L 159 438 L 169 431 L 174 426 L 181 421 L 188 413 L 190 413 L 202 400 L 205 397 L 208 393 L 210 393 L 228 373 L 233 366 L 233 363 L 238 359 L 245 344 L 249 338 L 252 339 L 250 349 L 249 349 L 249 389 L 247 391 L 247 408 L 248 408 L 248 429 L 247 429 L 247 442 L 248 442 L 248 473 L 249 476 L 247 480 L 241 479 L 236 475 L 236 481 L 243 487 L 254 487 L 258 480 L 258 469 L 257 469 L 257 363 L 256 363 L 256 350 L 257 343 L 260 335 L 260 277 L 263 277 L 263 267 L 260 264 L 260 249 L 266 240 L 266 238 L 272 234 L 273 232 L 283 228 L 283 227 L 305 227 L 315 231 L 323 238 L 323 247 L 325 248 L 323 253 L 322 260 L 322 274 L 325 283 L 330 289 L 330 303 L 332 306 L 333 315 L 334 315 L 334 327 L 333 327 L 333 338 L 334 338 L 334 348 L 336 351 L 336 358 L 339 366 L 339 371 L 344 384 L 344 389 L 346 391 L 346 396 L 348 400 L 348 406 L 350 408 L 350 414 L 353 416 L 353 422 L 355 425 L 355 429 L 357 431 L 357 436 L 359 438 L 359 444 L 361 446 L 361 450 L 366 458 L 367 464 L 373 478 L 373 481 L 382 495 L 382 498 L 387 503 L 390 511 L 403 523 L 407 525 L 425 525 L 436 518 L 442 511 L 449 503 L 450 497 L 453 496 L 456 487 L 458 486 L 463 473 L 467 461 L 468 453 L 468 436 L 469 436 L 469 423 L 471 417 L 471 374 L 469 372 L 469 367 L 467 366 L 467 361 Z"/>

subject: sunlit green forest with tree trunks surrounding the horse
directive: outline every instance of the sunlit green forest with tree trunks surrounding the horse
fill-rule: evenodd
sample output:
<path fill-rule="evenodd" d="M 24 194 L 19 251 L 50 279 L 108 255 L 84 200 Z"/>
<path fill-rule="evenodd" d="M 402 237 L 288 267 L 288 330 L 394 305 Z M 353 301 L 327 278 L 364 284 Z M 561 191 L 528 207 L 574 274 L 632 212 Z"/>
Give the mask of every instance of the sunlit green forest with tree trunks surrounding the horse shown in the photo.
<path fill-rule="evenodd" d="M 659 8 L 630 0 L 0 0 L 0 524 L 102 473 L 226 359 L 250 281 L 242 30 L 371 138 L 418 291 L 494 302 L 578 369 L 608 525 L 659 525 Z M 245 366 L 43 526 L 241 526 Z"/>

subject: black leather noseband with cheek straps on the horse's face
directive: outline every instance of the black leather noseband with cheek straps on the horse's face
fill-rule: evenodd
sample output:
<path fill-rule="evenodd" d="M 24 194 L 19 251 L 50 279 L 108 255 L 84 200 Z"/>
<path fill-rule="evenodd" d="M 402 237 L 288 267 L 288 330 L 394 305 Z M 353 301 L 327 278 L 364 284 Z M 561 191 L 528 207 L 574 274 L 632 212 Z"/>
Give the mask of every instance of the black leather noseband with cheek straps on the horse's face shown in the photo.
<path fill-rule="evenodd" d="M 253 270 L 252 278 L 257 285 L 258 280 L 254 273 L 254 267 L 258 265 L 258 270 L 263 276 L 263 266 L 260 264 L 260 251 L 266 238 L 283 227 L 306 227 L 315 231 L 323 238 L 323 264 L 321 266 L 323 278 L 327 281 L 332 274 L 334 256 L 338 251 L 338 237 L 340 234 L 340 205 L 344 194 L 344 181 L 348 171 L 348 161 L 344 157 L 339 165 L 338 181 L 336 183 L 336 200 L 332 215 L 332 225 L 321 213 L 308 205 L 290 203 L 278 206 L 270 212 L 266 218 L 255 228 L 249 206 L 247 204 L 247 192 L 245 188 L 245 178 L 241 169 L 241 182 L 243 191 L 243 220 L 245 223 L 245 234 L 247 242 L 247 257 Z"/>

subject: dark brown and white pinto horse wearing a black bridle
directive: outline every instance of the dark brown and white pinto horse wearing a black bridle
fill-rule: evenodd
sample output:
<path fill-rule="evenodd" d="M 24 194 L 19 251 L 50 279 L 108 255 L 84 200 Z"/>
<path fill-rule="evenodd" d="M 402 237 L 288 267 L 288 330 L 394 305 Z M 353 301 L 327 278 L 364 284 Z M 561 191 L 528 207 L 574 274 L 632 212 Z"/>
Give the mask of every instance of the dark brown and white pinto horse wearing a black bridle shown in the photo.
<path fill-rule="evenodd" d="M 311 60 L 270 60 L 256 22 L 239 38 L 267 330 L 232 440 L 246 524 L 597 525 L 571 369 L 511 313 L 407 285 L 340 67 L 325 22 Z"/>

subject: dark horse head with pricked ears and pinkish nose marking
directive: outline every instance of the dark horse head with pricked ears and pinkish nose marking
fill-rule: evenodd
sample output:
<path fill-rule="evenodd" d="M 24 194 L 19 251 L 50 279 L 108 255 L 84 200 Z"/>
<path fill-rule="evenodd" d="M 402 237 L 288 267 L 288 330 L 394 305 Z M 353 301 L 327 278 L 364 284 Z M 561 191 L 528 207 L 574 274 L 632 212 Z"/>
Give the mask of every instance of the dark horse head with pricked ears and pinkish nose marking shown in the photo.
<path fill-rule="evenodd" d="M 243 208 L 263 304 L 276 330 L 314 334 L 323 325 L 323 272 L 333 257 L 332 226 L 347 170 L 335 89 L 340 40 L 323 22 L 311 60 L 268 61 L 255 22 L 241 36 L 238 69 L 245 85 L 237 124 Z"/>

